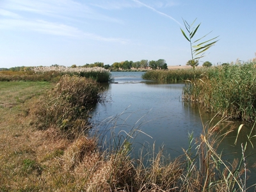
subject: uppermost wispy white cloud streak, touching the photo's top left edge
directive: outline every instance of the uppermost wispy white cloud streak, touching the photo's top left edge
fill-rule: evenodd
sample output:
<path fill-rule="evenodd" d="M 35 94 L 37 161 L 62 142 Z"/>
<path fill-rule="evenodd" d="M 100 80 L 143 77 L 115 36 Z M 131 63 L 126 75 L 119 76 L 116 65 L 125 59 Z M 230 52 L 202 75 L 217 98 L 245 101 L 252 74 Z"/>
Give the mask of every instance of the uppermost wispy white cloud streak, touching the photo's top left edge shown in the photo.
<path fill-rule="evenodd" d="M 20 14 L 33 13 L 37 17 L 39 15 L 44 15 L 57 19 L 94 19 L 122 23 L 120 19 L 109 17 L 108 15 L 103 15 L 102 13 L 95 11 L 88 3 L 77 3 L 72 0 L 9 0 L 8 3 L 6 1 L 3 8 L 5 10 L 19 12 Z"/>

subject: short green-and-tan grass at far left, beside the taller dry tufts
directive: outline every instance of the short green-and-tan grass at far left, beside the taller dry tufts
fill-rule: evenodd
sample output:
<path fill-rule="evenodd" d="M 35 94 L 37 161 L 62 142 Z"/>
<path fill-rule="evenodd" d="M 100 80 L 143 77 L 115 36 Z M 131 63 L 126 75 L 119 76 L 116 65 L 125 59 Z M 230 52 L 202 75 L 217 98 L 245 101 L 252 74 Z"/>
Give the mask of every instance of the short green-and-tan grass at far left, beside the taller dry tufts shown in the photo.
<path fill-rule="evenodd" d="M 35 100 L 52 88 L 47 82 L 0 83 L 0 191 L 33 191 L 39 186 L 38 147 L 44 143 L 31 126 Z"/>

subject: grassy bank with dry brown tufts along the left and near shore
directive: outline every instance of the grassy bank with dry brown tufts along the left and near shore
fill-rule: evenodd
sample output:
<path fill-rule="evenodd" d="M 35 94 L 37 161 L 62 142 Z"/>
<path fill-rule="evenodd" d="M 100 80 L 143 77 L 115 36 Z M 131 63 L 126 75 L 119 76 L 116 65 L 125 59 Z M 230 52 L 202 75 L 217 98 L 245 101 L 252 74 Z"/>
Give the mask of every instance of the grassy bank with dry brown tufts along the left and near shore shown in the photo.
<path fill-rule="evenodd" d="M 58 84 L 1 82 L 0 91 L 0 191 L 246 188 L 242 152 L 241 159 L 228 162 L 216 153 L 223 138 L 216 132 L 221 131 L 221 122 L 207 127 L 196 143 L 191 135 L 183 157 L 171 161 L 163 156 L 163 151 L 152 151 L 154 155 L 148 157 L 150 163 L 145 167 L 145 157 L 129 157 L 129 136 L 109 150 L 101 150 L 97 136 L 88 136 L 86 131 L 91 125 L 87 112 L 91 104 L 104 99 L 95 81 L 63 76 Z M 195 153 L 191 152 L 193 145 L 197 146 Z"/>

